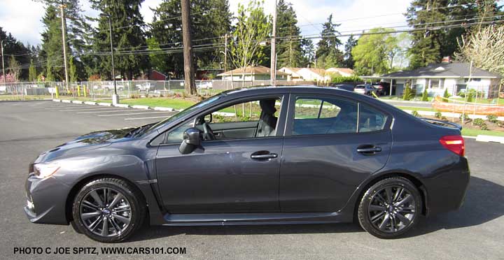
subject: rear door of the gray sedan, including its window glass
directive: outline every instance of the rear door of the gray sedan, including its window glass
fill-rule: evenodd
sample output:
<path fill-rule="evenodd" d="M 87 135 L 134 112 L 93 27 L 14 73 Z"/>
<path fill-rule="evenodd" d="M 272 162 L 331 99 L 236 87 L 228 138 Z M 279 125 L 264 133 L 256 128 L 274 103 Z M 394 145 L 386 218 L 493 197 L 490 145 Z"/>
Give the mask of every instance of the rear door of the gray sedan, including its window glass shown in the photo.
<path fill-rule="evenodd" d="M 391 117 L 339 96 L 293 95 L 280 170 L 283 212 L 335 212 L 384 167 Z"/>

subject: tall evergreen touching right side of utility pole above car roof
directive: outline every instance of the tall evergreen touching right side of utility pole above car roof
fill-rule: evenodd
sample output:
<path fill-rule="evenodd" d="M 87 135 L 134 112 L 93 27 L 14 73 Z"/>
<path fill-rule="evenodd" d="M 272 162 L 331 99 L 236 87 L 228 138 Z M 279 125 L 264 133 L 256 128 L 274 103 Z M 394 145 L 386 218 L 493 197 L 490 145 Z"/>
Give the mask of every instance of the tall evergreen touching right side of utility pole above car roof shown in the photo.
<path fill-rule="evenodd" d="M 290 3 L 280 0 L 276 6 L 276 55 L 277 67 L 302 66 L 301 30 L 297 16 Z"/>

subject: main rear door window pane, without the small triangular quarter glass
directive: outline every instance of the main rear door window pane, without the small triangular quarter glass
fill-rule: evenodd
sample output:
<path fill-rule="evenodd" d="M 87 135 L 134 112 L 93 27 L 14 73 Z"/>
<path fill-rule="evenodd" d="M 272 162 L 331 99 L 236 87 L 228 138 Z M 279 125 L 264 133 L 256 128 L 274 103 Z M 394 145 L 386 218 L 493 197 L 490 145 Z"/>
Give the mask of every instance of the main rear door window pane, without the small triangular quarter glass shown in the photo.
<path fill-rule="evenodd" d="M 356 133 L 357 103 L 341 99 L 297 98 L 293 135 Z"/>

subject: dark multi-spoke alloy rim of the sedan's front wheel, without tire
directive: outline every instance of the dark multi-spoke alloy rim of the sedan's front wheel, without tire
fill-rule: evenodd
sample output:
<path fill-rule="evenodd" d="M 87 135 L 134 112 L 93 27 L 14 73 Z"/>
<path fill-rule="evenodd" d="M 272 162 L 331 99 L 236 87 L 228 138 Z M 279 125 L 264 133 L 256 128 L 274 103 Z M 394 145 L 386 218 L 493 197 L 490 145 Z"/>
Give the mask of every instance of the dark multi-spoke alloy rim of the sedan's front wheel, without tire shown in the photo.
<path fill-rule="evenodd" d="M 120 236 L 132 220 L 130 201 L 109 187 L 92 189 L 80 202 L 79 215 L 85 228 L 102 237 Z"/>

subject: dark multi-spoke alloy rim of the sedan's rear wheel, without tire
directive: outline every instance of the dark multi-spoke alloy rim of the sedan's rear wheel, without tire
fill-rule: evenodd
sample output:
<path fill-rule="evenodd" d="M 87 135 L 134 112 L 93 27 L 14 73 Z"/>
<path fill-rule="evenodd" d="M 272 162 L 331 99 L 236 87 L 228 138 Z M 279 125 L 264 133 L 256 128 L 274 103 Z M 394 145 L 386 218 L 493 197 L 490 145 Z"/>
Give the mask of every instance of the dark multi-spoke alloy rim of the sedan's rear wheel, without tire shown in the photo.
<path fill-rule="evenodd" d="M 389 185 L 374 193 L 367 213 L 375 228 L 395 233 L 412 224 L 416 203 L 408 189 L 400 185 Z"/>

